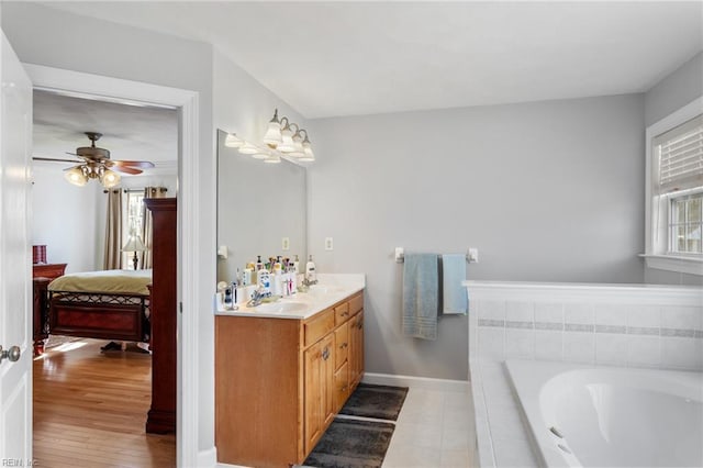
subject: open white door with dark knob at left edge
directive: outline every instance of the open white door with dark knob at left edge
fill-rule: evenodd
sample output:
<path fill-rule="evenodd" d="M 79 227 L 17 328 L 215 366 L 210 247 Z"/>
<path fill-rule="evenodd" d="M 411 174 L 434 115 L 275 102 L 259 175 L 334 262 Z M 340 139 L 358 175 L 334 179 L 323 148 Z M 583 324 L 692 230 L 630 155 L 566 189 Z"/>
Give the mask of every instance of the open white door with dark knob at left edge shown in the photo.
<path fill-rule="evenodd" d="M 0 361 L 0 465 L 26 467 L 32 463 L 32 82 L 0 34 L 0 346 L 7 355 Z"/>

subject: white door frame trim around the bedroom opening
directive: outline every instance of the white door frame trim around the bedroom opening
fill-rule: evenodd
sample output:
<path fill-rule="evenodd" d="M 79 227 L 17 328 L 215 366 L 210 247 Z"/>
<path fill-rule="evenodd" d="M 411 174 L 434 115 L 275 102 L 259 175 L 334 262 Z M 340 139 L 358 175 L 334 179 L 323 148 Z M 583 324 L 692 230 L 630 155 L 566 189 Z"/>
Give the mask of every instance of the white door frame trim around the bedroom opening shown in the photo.
<path fill-rule="evenodd" d="M 62 91 L 76 97 L 93 97 L 113 102 L 143 102 L 177 108 L 179 111 L 178 157 L 178 272 L 177 272 L 177 466 L 199 466 L 198 421 L 198 291 L 201 277 L 197 261 L 200 205 L 200 94 L 197 91 L 23 64 L 35 89 Z M 182 311 L 189 313 L 182 313 Z"/>

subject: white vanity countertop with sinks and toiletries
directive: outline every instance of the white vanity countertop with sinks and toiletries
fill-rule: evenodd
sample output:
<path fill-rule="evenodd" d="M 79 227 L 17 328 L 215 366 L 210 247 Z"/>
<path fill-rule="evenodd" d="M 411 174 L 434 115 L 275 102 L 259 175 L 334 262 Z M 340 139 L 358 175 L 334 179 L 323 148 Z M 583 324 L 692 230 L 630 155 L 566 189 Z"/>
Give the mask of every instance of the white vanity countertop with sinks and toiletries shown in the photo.
<path fill-rule="evenodd" d="M 222 316 L 257 316 L 267 319 L 295 319 L 305 320 L 319 312 L 334 305 L 335 303 L 362 291 L 366 287 L 366 275 L 364 274 L 319 274 L 317 285 L 310 288 L 309 292 L 298 292 L 291 297 L 281 298 L 276 302 L 265 302 L 260 307 L 247 308 L 239 304 L 235 311 L 216 310 L 215 315 Z M 292 302 L 300 304 L 299 310 L 275 310 L 276 305 Z"/>

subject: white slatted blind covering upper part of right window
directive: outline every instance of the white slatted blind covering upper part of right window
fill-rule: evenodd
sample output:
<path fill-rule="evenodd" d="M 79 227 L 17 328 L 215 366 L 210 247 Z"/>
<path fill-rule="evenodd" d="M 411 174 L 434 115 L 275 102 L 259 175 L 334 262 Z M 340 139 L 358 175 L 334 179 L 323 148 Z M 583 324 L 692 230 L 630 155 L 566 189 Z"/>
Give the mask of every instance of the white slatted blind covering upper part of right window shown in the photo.
<path fill-rule="evenodd" d="M 703 187 L 703 114 L 656 136 L 659 193 Z"/>

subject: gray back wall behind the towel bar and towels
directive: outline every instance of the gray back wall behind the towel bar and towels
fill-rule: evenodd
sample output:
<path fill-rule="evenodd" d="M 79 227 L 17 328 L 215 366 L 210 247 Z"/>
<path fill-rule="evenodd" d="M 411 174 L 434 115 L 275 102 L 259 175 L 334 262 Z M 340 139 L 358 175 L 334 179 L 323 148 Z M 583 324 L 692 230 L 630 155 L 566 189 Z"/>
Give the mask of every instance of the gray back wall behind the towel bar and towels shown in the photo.
<path fill-rule="evenodd" d="M 402 267 L 478 247 L 469 279 L 641 282 L 644 96 L 312 121 L 309 245 L 366 272 L 367 370 L 467 378 L 466 317 L 401 335 Z M 324 237 L 335 249 L 325 252 Z"/>

